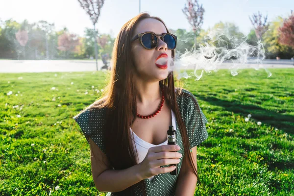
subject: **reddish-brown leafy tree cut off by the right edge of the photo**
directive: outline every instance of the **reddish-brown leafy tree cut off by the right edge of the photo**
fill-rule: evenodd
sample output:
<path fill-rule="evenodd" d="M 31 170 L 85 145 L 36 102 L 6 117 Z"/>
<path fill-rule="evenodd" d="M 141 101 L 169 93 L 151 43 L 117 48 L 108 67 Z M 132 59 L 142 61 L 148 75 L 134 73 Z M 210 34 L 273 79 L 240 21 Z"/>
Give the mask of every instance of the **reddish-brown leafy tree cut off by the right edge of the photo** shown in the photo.
<path fill-rule="evenodd" d="M 290 46 L 294 49 L 294 15 L 292 14 L 284 23 L 279 27 L 280 37 L 279 43 Z"/>

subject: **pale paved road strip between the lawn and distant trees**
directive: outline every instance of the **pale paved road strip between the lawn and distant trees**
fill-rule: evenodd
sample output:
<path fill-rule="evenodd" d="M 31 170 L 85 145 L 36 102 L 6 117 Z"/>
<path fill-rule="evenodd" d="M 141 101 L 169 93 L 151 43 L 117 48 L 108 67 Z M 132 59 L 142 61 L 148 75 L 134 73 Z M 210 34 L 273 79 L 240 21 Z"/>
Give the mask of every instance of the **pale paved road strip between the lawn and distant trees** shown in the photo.
<path fill-rule="evenodd" d="M 98 70 L 103 66 L 98 61 Z M 230 62 L 224 62 L 221 69 L 229 69 Z M 239 65 L 240 69 L 251 68 L 254 64 Z M 265 68 L 294 68 L 290 60 L 265 60 Z M 188 69 L 193 69 L 189 67 Z M 0 60 L 0 73 L 30 73 L 30 72 L 84 72 L 96 71 L 95 60 Z"/>

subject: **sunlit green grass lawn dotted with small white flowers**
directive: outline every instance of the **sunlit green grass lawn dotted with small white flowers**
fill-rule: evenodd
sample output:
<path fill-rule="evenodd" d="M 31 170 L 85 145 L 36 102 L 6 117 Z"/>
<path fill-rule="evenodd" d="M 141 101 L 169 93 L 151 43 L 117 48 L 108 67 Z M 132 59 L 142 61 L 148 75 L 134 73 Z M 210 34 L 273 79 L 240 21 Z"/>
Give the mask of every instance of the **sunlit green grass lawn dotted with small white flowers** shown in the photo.
<path fill-rule="evenodd" d="M 294 73 L 270 71 L 270 78 L 221 70 L 183 80 L 209 120 L 196 195 L 294 195 Z M 106 73 L 54 74 L 0 73 L 0 196 L 99 193 L 89 145 L 72 117 L 98 98 Z"/>

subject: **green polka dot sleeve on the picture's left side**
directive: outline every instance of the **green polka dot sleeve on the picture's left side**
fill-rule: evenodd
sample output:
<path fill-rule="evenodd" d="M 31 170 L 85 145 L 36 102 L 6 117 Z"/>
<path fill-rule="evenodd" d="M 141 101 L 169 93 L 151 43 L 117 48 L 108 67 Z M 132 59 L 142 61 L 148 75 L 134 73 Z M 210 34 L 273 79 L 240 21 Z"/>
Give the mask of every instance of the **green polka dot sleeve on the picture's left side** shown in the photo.
<path fill-rule="evenodd" d="M 105 145 L 103 140 L 105 110 L 86 109 L 73 117 L 73 119 L 79 125 L 82 133 L 87 139 L 88 144 L 90 144 L 89 138 L 91 138 L 105 154 Z"/>

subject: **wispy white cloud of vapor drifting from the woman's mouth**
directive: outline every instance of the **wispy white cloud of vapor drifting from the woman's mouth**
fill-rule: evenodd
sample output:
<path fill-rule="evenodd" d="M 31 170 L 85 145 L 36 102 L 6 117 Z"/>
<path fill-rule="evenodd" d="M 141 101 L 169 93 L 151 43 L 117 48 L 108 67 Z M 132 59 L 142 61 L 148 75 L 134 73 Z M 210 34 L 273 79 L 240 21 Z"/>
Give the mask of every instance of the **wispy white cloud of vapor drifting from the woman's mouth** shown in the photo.
<path fill-rule="evenodd" d="M 228 69 L 235 76 L 242 68 L 263 68 L 268 77 L 271 76 L 270 71 L 262 65 L 265 49 L 261 42 L 251 46 L 247 44 L 246 36 L 229 36 L 220 29 L 210 31 L 204 38 L 204 43 L 199 44 L 198 49 L 186 50 L 170 59 L 169 71 L 177 72 L 178 79 L 196 77 L 199 80 L 204 72 L 210 74 L 220 69 Z M 187 70 L 194 72 L 187 73 Z"/>

